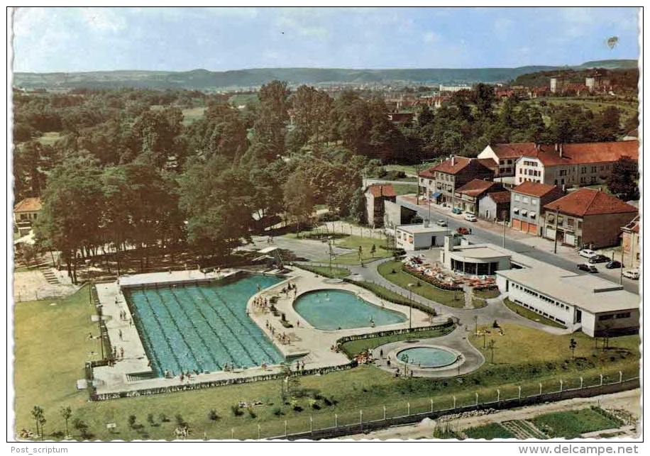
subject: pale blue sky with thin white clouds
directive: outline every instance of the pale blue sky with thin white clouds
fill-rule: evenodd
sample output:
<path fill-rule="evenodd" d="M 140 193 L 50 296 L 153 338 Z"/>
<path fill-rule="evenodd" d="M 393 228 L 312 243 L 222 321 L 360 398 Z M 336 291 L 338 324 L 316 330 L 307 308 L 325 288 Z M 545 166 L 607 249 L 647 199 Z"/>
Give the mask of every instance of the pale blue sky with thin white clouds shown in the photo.
<path fill-rule="evenodd" d="M 19 8 L 13 69 L 578 65 L 638 33 L 634 8 Z"/>

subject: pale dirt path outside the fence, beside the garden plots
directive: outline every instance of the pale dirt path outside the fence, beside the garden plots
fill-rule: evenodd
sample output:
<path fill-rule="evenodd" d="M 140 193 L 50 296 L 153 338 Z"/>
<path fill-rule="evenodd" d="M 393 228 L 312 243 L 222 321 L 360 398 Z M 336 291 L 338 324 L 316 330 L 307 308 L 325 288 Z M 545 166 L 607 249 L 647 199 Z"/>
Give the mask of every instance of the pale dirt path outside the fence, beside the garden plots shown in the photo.
<path fill-rule="evenodd" d="M 447 421 L 451 424 L 453 429 L 462 430 L 466 428 L 473 428 L 475 426 L 483 426 L 487 423 L 495 423 L 510 420 L 527 420 L 534 416 L 541 415 L 542 413 L 550 413 L 554 411 L 574 410 L 577 408 L 585 408 L 589 406 L 601 406 L 602 408 L 619 408 L 639 419 L 641 416 L 641 391 L 633 389 L 631 391 L 622 391 L 615 394 L 604 394 L 602 396 L 594 396 L 589 398 L 567 399 L 566 401 L 558 401 L 550 404 L 541 404 L 537 406 L 528 406 L 523 408 L 513 408 L 511 410 L 498 411 L 482 416 L 469 416 L 460 418 L 453 421 Z M 431 438 L 433 435 L 436 421 L 425 419 L 421 423 L 409 426 L 397 426 L 394 428 L 382 429 L 368 434 L 351 435 L 353 440 L 364 439 L 421 439 Z"/>

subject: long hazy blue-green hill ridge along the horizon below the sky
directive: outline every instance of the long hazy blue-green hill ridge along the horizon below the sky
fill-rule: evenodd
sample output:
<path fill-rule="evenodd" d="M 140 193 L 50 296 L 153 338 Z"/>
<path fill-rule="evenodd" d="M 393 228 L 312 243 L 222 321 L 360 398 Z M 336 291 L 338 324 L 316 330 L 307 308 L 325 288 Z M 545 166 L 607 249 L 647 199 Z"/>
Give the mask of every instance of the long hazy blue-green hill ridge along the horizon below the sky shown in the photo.
<path fill-rule="evenodd" d="M 606 63 L 603 63 L 606 62 Z M 628 67 L 634 60 L 586 62 L 573 68 Z M 379 84 L 411 82 L 416 84 L 507 82 L 522 74 L 566 69 L 531 65 L 517 68 L 429 68 L 429 69 L 336 69 L 336 68 L 254 68 L 225 72 L 193 69 L 187 72 L 119 70 L 73 73 L 14 74 L 13 85 L 27 89 L 72 89 L 79 87 L 115 89 L 226 89 L 258 87 L 273 79 L 298 84 Z"/>

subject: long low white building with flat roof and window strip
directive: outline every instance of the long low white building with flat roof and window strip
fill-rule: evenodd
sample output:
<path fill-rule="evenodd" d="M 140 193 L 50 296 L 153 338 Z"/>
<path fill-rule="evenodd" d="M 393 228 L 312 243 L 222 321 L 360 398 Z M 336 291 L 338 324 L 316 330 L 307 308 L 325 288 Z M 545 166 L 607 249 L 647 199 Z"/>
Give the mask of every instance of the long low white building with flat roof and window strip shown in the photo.
<path fill-rule="evenodd" d="M 622 285 L 552 265 L 497 271 L 511 301 L 591 337 L 639 330 L 639 296 Z"/>

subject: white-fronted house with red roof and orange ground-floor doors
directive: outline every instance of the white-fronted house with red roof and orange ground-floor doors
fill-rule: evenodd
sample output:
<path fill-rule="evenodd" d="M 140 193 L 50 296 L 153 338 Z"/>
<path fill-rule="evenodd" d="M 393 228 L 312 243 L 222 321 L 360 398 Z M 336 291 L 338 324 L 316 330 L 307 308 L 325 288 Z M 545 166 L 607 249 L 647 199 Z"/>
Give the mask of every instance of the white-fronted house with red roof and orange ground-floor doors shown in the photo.
<path fill-rule="evenodd" d="M 544 206 L 564 196 L 560 187 L 522 182 L 510 192 L 510 226 L 524 233 L 541 235 L 541 221 Z"/>

